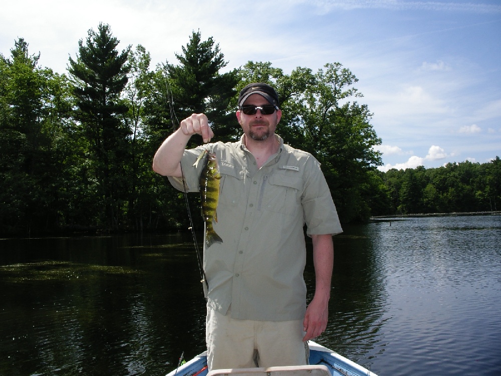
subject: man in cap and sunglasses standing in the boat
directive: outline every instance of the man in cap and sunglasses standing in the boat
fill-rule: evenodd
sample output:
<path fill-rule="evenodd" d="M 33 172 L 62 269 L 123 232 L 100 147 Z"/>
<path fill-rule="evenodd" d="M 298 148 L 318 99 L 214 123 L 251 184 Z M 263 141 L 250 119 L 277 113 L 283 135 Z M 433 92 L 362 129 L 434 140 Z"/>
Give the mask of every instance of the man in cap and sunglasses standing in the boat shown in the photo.
<path fill-rule="evenodd" d="M 332 235 L 342 232 L 319 162 L 275 134 L 282 116 L 275 89 L 245 86 L 236 118 L 238 142 L 208 143 L 208 119 L 193 114 L 160 146 L 153 169 L 183 190 L 198 191 L 208 149 L 219 161 L 220 195 L 214 231 L 222 243 L 207 247 L 206 342 L 209 369 L 308 364 L 308 340 L 327 326 L 333 266 Z M 185 150 L 193 134 L 203 146 Z M 313 241 L 315 295 L 306 306 L 306 246 Z"/>

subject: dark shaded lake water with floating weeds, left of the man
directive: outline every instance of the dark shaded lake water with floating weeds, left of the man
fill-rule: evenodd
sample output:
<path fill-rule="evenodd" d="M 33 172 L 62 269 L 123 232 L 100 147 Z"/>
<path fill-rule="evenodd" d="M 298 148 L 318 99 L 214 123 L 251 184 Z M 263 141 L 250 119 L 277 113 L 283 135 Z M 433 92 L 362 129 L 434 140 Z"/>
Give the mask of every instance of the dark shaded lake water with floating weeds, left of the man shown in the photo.
<path fill-rule="evenodd" d="M 200 352 L 190 248 L 178 236 L 2 241 L 0 374 L 162 374 L 183 347 Z"/>

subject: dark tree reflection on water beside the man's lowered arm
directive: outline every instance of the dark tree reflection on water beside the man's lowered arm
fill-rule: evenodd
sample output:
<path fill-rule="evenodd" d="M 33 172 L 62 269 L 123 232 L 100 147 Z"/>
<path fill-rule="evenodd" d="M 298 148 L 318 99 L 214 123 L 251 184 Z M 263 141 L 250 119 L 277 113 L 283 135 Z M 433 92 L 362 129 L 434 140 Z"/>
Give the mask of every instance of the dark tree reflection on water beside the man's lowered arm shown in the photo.
<path fill-rule="evenodd" d="M 385 348 L 384 265 L 361 226 L 344 226 L 334 238 L 335 261 L 329 326 L 318 342 L 371 368 L 371 359 Z M 313 284 L 312 284 L 313 286 Z"/>

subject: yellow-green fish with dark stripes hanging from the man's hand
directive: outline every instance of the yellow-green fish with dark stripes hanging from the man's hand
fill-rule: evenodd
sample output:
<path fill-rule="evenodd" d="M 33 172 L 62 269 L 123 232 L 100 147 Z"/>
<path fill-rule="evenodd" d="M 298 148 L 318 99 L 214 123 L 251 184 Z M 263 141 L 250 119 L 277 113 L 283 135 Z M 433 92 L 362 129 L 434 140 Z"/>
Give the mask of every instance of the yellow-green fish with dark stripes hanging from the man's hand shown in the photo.
<path fill-rule="evenodd" d="M 205 222 L 205 243 L 210 247 L 214 243 L 222 243 L 222 239 L 216 234 L 212 227 L 213 221 L 217 222 L 217 202 L 219 201 L 219 181 L 221 174 L 219 173 L 219 165 L 215 154 L 208 150 L 203 151 L 194 165 L 204 157 L 205 163 L 200 174 L 200 196 L 202 206 L 202 218 Z"/>

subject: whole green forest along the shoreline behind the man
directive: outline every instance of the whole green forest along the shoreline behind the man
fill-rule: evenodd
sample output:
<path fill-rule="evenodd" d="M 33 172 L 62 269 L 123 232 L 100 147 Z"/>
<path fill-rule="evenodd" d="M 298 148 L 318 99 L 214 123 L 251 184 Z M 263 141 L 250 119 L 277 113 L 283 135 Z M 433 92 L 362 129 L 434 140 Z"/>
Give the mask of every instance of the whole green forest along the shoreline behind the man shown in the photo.
<path fill-rule="evenodd" d="M 193 32 L 176 64 L 150 67 L 141 45 L 118 49 L 109 25 L 78 41 L 66 74 L 38 65 L 23 38 L 0 54 L 0 234 L 187 229 L 199 198 L 151 169 L 162 141 L 192 113 L 205 113 L 214 141 L 240 136 L 239 90 L 272 84 L 286 143 L 321 163 L 342 223 L 372 216 L 497 211 L 501 161 L 381 172 L 381 144 L 359 103 L 356 76 L 338 62 L 290 74 L 270 62 L 228 62 Z M 190 145 L 201 143 L 192 137 Z M 201 217 L 193 215 L 195 226 Z"/>

